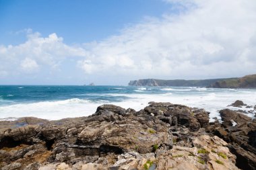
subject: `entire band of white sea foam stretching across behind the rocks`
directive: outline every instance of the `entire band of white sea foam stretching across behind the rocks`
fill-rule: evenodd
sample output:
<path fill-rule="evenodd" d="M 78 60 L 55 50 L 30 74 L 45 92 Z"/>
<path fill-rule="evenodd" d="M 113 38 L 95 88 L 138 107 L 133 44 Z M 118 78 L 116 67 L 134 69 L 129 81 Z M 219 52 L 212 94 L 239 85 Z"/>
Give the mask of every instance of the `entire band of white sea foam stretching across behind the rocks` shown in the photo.
<path fill-rule="evenodd" d="M 145 91 L 143 88 L 141 91 Z M 189 89 L 189 88 L 187 88 Z M 193 89 L 192 89 L 193 90 Z M 248 92 L 248 93 L 245 93 Z M 86 94 L 88 95 L 88 94 Z M 92 94 L 91 94 L 92 95 Z M 204 108 L 207 112 L 210 112 L 210 120 L 214 121 L 214 117 L 220 119 L 219 110 L 227 108 L 227 105 L 241 99 L 247 105 L 256 104 L 256 90 L 236 90 L 230 91 L 229 89 L 205 89 L 205 91 L 194 91 L 188 93 L 166 93 L 150 94 L 150 93 L 107 93 L 98 94 L 102 96 L 119 97 L 125 96 L 127 99 L 119 102 L 110 101 L 90 101 L 87 99 L 66 99 L 60 101 L 41 101 L 37 103 L 19 103 L 12 105 L 0 106 L 0 118 L 15 117 L 20 118 L 24 116 L 34 116 L 38 118 L 45 118 L 49 120 L 58 120 L 61 118 L 88 116 L 96 112 L 96 108 L 99 105 L 105 103 L 111 103 L 119 105 L 123 108 L 133 108 L 135 110 L 141 110 L 148 105 L 150 101 L 156 102 L 170 102 L 188 105 L 195 108 Z M 232 108 L 230 109 L 238 109 Z M 242 110 L 249 111 L 251 108 L 241 108 Z M 247 114 L 247 116 L 253 117 L 255 113 Z"/>

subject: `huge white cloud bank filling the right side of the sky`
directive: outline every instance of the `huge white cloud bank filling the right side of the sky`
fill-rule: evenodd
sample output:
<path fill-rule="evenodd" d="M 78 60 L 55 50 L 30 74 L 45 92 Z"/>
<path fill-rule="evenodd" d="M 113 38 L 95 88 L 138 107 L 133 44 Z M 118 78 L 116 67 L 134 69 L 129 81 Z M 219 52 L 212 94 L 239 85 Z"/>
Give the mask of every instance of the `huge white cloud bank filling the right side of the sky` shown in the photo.
<path fill-rule="evenodd" d="M 137 77 L 229 77 L 255 73 L 254 0 L 166 0 L 185 12 L 164 14 L 85 44 L 86 73 Z M 254 52 L 254 54 L 253 54 Z M 84 63 L 84 65 L 83 65 Z M 89 69 L 85 69 L 89 68 Z M 92 71 L 90 68 L 98 68 Z"/>

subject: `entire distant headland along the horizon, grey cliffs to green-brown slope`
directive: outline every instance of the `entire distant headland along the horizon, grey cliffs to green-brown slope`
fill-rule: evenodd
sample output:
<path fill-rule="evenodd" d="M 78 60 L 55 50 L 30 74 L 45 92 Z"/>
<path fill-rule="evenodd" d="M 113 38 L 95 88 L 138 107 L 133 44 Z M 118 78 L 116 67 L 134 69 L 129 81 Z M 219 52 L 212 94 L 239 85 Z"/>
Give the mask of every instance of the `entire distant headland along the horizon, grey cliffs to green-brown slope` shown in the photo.
<path fill-rule="evenodd" d="M 177 87 L 214 87 L 214 88 L 253 88 L 256 87 L 256 75 L 242 78 L 204 79 L 204 80 L 161 80 L 139 79 L 130 81 L 131 86 L 177 86 Z"/>

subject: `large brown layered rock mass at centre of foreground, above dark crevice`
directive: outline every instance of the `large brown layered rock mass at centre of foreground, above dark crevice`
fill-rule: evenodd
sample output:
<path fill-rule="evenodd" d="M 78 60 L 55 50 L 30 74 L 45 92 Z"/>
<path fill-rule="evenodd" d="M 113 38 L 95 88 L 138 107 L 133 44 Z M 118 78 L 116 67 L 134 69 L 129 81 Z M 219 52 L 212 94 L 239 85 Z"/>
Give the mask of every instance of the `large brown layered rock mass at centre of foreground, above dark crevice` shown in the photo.
<path fill-rule="evenodd" d="M 131 147 L 138 147 L 141 153 L 152 151 L 152 145 L 169 145 L 171 138 L 166 130 L 156 131 L 150 128 L 143 130 L 143 124 L 134 122 L 134 124 L 113 124 L 102 123 L 98 126 L 87 126 L 78 135 L 78 140 L 82 144 L 90 145 L 92 143 L 104 144 L 103 147 L 108 151 L 122 153 L 123 150 L 129 151 Z"/>

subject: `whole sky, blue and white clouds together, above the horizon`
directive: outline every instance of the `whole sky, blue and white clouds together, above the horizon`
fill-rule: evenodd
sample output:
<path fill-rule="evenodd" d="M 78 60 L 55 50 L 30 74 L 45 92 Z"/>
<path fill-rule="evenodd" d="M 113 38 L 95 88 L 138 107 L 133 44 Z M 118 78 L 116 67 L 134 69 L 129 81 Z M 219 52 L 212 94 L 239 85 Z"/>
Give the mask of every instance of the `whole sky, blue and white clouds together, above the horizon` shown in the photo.
<path fill-rule="evenodd" d="M 255 0 L 0 0 L 0 84 L 256 73 Z"/>

